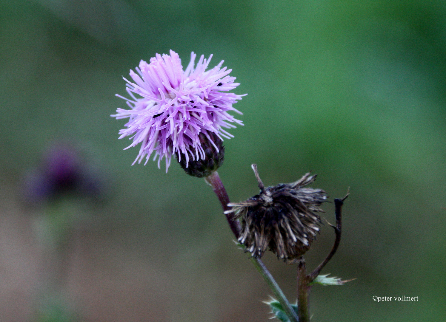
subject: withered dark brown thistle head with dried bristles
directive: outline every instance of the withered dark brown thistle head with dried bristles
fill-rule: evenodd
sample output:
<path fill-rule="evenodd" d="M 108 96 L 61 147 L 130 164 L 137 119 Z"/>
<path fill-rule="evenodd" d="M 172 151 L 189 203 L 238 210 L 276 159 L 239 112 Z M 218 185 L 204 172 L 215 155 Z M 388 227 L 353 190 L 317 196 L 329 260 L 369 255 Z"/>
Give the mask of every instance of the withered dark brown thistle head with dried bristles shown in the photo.
<path fill-rule="evenodd" d="M 257 172 L 252 170 L 259 183 L 260 194 L 246 201 L 228 204 L 241 220 L 238 241 L 244 244 L 253 257 L 260 258 L 267 248 L 286 263 L 301 257 L 316 238 L 323 212 L 319 206 L 327 198 L 322 189 L 307 188 L 316 175 L 307 173 L 293 183 L 264 187 Z"/>

